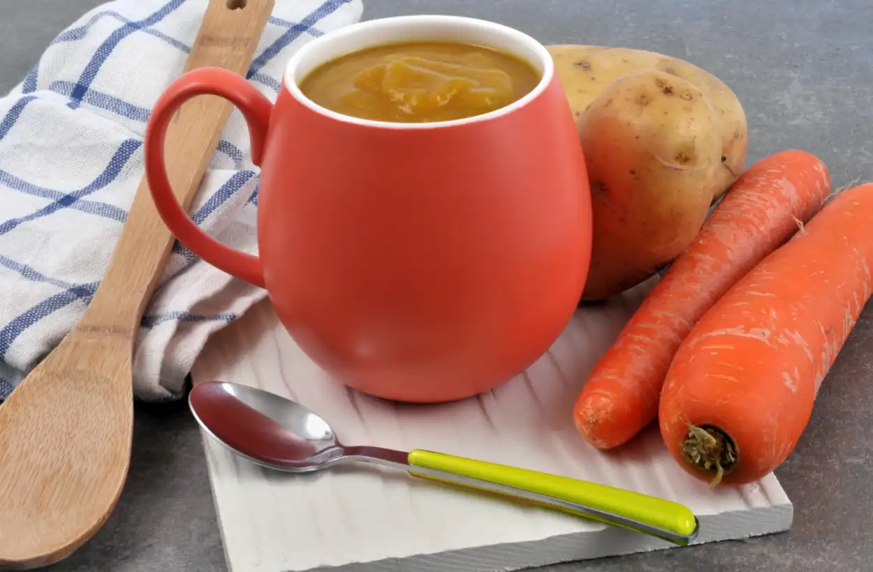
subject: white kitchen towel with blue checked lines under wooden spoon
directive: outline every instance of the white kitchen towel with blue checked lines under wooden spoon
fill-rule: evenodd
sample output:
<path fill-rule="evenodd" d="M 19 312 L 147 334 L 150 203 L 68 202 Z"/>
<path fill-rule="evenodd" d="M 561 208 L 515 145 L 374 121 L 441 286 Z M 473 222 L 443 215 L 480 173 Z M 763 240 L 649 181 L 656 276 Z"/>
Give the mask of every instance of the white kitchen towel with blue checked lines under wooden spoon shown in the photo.
<path fill-rule="evenodd" d="M 80 17 L 0 99 L 0 399 L 82 317 L 142 173 L 155 99 L 177 78 L 207 0 L 118 0 Z M 275 100 L 285 62 L 361 19 L 361 0 L 276 0 L 247 77 Z M 258 173 L 234 111 L 192 208 L 211 235 L 257 252 Z M 175 244 L 137 339 L 134 395 L 178 398 L 214 331 L 265 291 Z"/>

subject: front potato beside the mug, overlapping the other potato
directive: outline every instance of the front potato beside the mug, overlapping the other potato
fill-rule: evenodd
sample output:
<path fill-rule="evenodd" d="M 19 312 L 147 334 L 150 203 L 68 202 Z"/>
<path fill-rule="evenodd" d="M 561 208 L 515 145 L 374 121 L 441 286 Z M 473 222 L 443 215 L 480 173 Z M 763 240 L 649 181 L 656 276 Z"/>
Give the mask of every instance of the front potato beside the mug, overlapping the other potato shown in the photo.
<path fill-rule="evenodd" d="M 601 300 L 654 275 L 698 234 L 722 140 L 704 92 L 656 70 L 615 79 L 576 126 L 594 224 L 582 299 Z"/>

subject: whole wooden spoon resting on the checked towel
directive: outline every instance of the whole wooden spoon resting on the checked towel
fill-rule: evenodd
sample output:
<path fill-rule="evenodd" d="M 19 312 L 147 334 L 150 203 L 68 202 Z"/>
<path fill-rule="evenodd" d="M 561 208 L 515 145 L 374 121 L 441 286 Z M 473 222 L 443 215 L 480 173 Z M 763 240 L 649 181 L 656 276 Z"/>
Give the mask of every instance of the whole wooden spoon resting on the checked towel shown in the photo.
<path fill-rule="evenodd" d="M 185 71 L 244 74 L 272 6 L 210 0 Z M 169 126 L 167 170 L 185 208 L 231 110 L 224 99 L 198 97 Z M 0 567 L 58 562 L 112 513 L 130 464 L 134 341 L 173 242 L 143 177 L 85 316 L 0 406 Z"/>

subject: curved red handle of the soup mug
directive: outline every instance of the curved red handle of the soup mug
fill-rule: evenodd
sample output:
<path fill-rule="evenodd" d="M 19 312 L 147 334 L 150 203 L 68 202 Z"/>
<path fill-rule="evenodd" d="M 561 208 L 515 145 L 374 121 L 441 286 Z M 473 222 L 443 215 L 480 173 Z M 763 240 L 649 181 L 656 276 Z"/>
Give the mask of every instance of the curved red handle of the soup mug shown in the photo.
<path fill-rule="evenodd" d="M 231 276 L 265 288 L 260 258 L 231 249 L 203 232 L 179 204 L 170 186 L 164 162 L 167 128 L 179 106 L 198 95 L 217 95 L 237 106 L 249 126 L 251 161 L 258 166 L 261 164 L 272 112 L 270 99 L 233 71 L 218 67 L 196 68 L 185 72 L 169 85 L 155 102 L 148 118 L 144 160 L 152 200 L 169 231 L 191 252 Z"/>

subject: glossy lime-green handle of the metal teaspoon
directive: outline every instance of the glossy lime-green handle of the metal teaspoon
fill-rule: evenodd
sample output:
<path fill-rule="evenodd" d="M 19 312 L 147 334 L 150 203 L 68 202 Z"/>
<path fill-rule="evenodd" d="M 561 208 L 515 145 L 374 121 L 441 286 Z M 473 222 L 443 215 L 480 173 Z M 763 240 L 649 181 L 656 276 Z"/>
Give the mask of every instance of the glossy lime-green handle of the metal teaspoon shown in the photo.
<path fill-rule="evenodd" d="M 691 509 L 647 494 L 421 449 L 409 452 L 407 460 L 423 469 L 409 468 L 416 476 L 527 500 L 682 546 L 698 532 Z"/>

